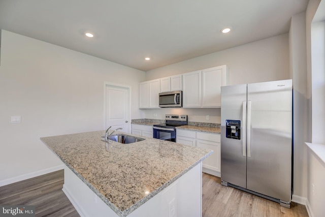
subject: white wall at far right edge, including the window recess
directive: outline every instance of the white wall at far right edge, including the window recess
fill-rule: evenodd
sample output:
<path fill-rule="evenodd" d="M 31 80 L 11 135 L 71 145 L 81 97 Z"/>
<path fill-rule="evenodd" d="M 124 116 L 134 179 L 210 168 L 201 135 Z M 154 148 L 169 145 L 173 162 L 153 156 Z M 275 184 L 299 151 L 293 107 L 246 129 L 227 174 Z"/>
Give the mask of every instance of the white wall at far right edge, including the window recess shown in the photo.
<path fill-rule="evenodd" d="M 325 0 L 310 0 L 306 11 L 309 141 L 325 146 Z M 318 153 L 323 155 L 324 153 Z M 325 164 L 311 150 L 307 151 L 307 199 L 311 216 L 324 215 Z"/>

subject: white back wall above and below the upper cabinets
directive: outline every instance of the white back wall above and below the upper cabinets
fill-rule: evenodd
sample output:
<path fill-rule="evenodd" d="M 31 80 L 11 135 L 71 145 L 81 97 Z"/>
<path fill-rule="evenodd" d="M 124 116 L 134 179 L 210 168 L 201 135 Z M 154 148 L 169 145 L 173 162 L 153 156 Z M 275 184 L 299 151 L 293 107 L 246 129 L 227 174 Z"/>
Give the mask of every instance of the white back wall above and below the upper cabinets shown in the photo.
<path fill-rule="evenodd" d="M 289 79 L 288 34 L 241 45 L 146 72 L 145 80 L 227 65 L 230 84 Z M 165 114 L 187 114 L 189 121 L 220 123 L 220 109 L 147 109 L 146 118 L 165 119 Z M 153 114 L 157 116 L 153 116 Z M 210 119 L 206 119 L 210 115 Z"/>

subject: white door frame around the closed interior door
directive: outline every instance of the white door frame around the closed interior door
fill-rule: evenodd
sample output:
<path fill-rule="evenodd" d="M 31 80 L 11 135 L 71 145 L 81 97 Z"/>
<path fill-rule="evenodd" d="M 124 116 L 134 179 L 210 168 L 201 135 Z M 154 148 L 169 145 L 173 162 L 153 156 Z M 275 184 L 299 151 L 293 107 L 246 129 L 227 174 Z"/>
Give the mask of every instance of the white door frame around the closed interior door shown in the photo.
<path fill-rule="evenodd" d="M 103 119 L 103 129 L 106 130 L 105 122 L 106 122 L 106 87 L 111 86 L 111 87 L 120 87 L 120 88 L 125 88 L 127 90 L 127 111 L 128 111 L 128 122 L 127 122 L 127 128 L 128 128 L 128 133 L 131 133 L 131 86 L 129 85 L 124 85 L 124 84 L 117 84 L 117 83 L 112 83 L 112 82 L 107 82 L 104 81 L 104 119 Z"/>

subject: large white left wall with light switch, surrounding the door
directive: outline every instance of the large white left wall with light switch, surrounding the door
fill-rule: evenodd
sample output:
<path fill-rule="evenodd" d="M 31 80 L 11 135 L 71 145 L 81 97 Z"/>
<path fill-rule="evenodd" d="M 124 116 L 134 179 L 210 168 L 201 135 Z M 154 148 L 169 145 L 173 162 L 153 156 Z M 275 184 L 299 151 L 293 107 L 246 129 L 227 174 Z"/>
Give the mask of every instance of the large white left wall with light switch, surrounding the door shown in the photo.
<path fill-rule="evenodd" d="M 144 72 L 6 30 L 1 40 L 0 182 L 61 164 L 40 137 L 103 130 L 105 81 L 131 86 L 141 117 Z"/>

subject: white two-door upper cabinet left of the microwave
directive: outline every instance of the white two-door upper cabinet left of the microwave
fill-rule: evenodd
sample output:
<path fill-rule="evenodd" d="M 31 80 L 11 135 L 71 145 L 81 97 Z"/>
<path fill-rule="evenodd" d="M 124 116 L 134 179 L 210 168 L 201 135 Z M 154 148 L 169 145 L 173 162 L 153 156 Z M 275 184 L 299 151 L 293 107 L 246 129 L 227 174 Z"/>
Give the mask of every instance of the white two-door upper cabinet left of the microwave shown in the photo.
<path fill-rule="evenodd" d="M 139 84 L 139 108 L 159 108 L 160 79 Z"/>

